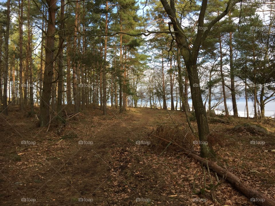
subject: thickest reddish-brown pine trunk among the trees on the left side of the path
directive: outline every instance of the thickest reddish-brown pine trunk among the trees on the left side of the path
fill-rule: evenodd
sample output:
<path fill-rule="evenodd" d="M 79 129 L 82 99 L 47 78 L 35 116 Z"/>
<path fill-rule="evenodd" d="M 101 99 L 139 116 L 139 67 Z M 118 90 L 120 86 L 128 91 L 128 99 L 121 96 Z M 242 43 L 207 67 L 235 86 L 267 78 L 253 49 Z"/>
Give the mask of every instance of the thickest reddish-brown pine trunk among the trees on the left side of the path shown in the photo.
<path fill-rule="evenodd" d="M 40 126 L 50 123 L 50 98 L 52 89 L 52 74 L 54 62 L 54 33 L 56 0 L 46 0 L 48 4 L 48 29 L 45 47 L 45 70 L 43 78 L 42 97 L 40 105 Z"/>

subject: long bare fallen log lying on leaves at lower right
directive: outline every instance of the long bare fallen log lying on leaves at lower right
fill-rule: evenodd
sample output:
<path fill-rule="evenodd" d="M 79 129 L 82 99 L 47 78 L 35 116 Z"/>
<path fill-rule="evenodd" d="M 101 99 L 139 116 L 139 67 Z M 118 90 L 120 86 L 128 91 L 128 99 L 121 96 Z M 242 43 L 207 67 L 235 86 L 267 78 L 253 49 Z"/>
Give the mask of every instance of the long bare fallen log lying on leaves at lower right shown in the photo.
<path fill-rule="evenodd" d="M 183 153 L 186 154 L 188 157 L 192 157 L 195 160 L 201 162 L 203 165 L 209 166 L 213 171 L 215 171 L 219 176 L 225 177 L 229 183 L 231 183 L 238 191 L 243 193 L 250 201 L 256 203 L 257 205 L 261 206 L 275 206 L 275 201 L 271 198 L 267 197 L 263 193 L 253 189 L 252 187 L 248 186 L 247 184 L 243 183 L 241 179 L 239 179 L 236 175 L 228 172 L 227 170 L 223 169 L 216 163 L 213 163 L 209 160 L 206 160 L 194 153 L 190 153 L 188 150 L 183 149 Z M 261 201 L 259 201 L 261 200 Z"/>

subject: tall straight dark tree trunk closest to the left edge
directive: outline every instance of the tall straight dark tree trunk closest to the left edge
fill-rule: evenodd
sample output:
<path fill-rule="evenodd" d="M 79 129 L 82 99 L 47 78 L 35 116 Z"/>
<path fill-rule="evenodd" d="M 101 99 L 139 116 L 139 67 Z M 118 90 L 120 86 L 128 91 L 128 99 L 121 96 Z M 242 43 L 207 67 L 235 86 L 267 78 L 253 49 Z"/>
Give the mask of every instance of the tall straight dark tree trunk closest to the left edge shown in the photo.
<path fill-rule="evenodd" d="M 7 83 L 8 83 L 8 64 L 9 64 L 9 21 L 10 21 L 10 0 L 7 1 L 7 21 L 5 35 L 5 59 L 4 59 L 4 89 L 3 89 L 3 113 L 8 115 L 7 108 Z"/>

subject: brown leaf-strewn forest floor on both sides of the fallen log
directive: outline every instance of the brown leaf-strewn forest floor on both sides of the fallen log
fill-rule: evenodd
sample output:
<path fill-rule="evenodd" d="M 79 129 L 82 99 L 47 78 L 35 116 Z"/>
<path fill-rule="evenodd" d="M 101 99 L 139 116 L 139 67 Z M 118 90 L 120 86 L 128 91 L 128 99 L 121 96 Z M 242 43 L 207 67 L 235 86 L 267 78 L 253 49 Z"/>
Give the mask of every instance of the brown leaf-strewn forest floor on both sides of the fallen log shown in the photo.
<path fill-rule="evenodd" d="M 254 205 L 226 181 L 215 189 L 219 203 L 208 190 L 195 195 L 194 188 L 204 188 L 200 163 L 169 147 L 165 152 L 154 149 L 157 140 L 148 133 L 172 119 L 185 126 L 184 113 L 169 111 L 171 119 L 165 110 L 117 112 L 108 108 L 103 116 L 88 108 L 59 129 L 54 122 L 38 127 L 36 117 L 9 107 L 9 116 L 0 117 L 0 204 Z M 232 130 L 244 121 L 210 122 L 210 130 L 221 134 L 216 161 L 275 200 L 275 154 L 264 152 L 275 149 L 275 124 L 264 125 L 267 135 Z M 252 140 L 265 144 L 250 144 Z"/>

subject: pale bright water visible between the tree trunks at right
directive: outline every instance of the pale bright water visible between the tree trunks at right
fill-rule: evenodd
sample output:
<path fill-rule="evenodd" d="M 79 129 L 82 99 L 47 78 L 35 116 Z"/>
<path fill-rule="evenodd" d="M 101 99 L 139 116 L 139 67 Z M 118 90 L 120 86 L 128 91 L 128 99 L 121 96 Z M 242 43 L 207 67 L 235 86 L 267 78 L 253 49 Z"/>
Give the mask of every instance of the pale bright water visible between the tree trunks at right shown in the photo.
<path fill-rule="evenodd" d="M 227 108 L 228 108 L 229 113 L 231 115 L 233 115 L 232 101 L 230 99 L 228 99 L 226 102 L 227 102 Z M 188 103 L 191 107 L 192 106 L 192 100 L 188 100 Z M 146 102 L 143 101 L 142 106 L 144 106 L 145 104 L 146 104 Z M 162 104 L 162 102 L 161 102 L 161 104 Z M 213 101 L 213 102 L 211 102 L 211 104 L 214 105 L 215 102 Z M 140 101 L 138 102 L 138 106 L 140 106 Z M 158 106 L 159 106 L 159 103 L 158 103 Z M 174 102 L 174 106 L 176 106 L 176 102 Z M 149 102 L 147 104 L 147 107 L 150 107 Z M 167 101 L 167 107 L 168 107 L 168 109 L 170 109 L 170 107 L 171 107 L 171 101 L 169 101 L 169 100 Z M 179 109 L 179 102 L 178 102 L 178 109 Z M 208 110 L 208 102 L 206 103 L 206 109 Z M 245 98 L 237 99 L 237 109 L 238 109 L 239 116 L 241 116 L 241 117 L 246 116 Z M 224 104 L 223 103 L 215 108 L 216 114 L 221 114 L 222 110 L 224 110 Z M 259 110 L 260 110 L 260 107 L 259 107 Z M 248 112 L 249 112 L 248 114 L 249 114 L 250 117 L 254 116 L 254 106 L 253 106 L 252 101 L 248 101 Z M 274 115 L 275 115 L 275 99 L 268 102 L 265 106 L 265 116 L 274 117 Z"/>

